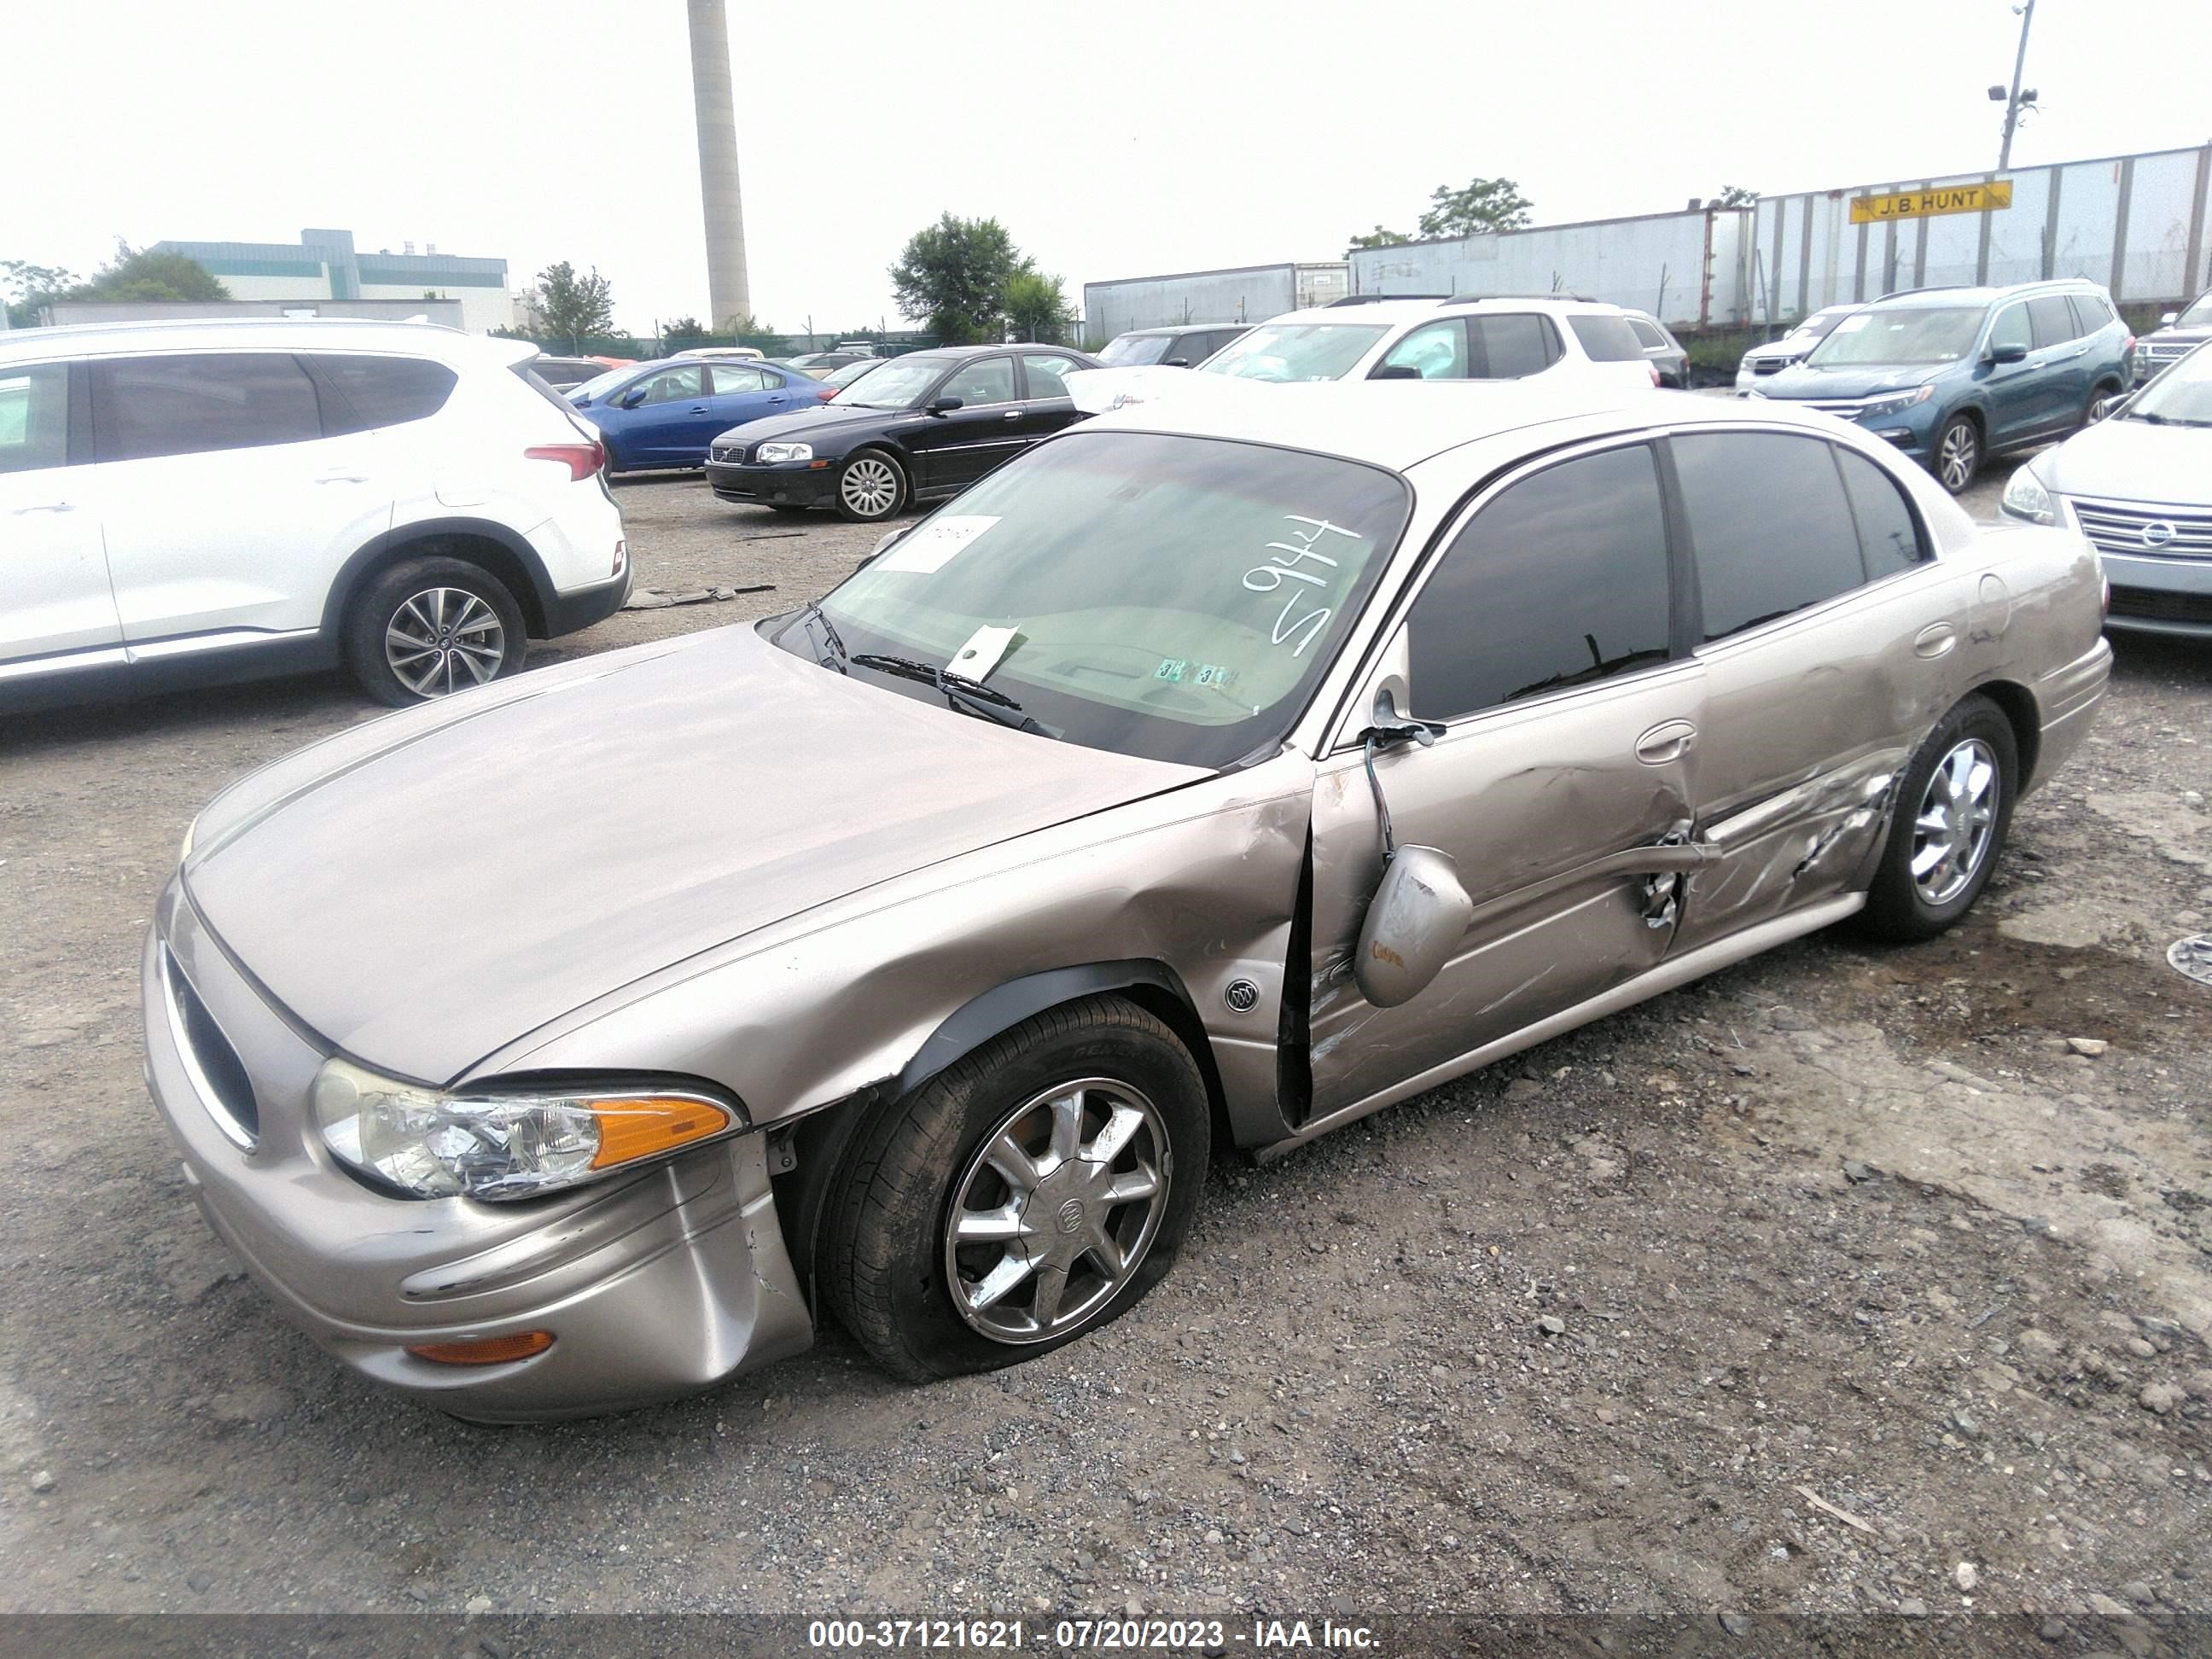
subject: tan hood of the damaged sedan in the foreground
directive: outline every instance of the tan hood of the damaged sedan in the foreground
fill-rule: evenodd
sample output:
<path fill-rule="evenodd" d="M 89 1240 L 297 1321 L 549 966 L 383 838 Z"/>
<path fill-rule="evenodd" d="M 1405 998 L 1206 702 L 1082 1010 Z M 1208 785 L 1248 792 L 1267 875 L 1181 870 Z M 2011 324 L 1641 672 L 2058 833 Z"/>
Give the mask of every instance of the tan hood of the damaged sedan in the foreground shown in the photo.
<path fill-rule="evenodd" d="M 1201 776 L 865 686 L 734 626 L 279 761 L 201 814 L 184 885 L 296 1020 L 442 1084 L 697 951 Z"/>

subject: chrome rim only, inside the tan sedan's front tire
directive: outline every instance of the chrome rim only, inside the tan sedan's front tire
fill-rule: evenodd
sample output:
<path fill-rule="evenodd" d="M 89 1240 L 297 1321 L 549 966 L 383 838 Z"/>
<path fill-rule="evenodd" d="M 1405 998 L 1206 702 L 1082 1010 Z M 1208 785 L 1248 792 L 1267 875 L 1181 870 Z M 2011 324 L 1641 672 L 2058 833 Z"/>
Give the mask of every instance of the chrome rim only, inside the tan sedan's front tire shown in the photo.
<path fill-rule="evenodd" d="M 1079 1327 L 1135 1276 L 1168 1203 L 1159 1110 L 1108 1077 L 1057 1084 L 1006 1113 L 953 1188 L 945 1281 L 993 1343 Z"/>

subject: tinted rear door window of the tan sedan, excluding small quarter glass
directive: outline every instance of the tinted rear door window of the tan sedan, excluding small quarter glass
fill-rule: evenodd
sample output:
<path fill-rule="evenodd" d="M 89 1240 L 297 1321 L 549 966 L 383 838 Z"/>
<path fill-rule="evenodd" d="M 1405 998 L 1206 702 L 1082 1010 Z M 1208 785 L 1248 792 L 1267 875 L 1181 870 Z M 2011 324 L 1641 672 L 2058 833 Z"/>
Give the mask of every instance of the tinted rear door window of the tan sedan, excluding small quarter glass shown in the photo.
<path fill-rule="evenodd" d="M 1843 480 L 1820 438 L 1677 436 L 1705 639 L 1787 617 L 1867 580 Z"/>

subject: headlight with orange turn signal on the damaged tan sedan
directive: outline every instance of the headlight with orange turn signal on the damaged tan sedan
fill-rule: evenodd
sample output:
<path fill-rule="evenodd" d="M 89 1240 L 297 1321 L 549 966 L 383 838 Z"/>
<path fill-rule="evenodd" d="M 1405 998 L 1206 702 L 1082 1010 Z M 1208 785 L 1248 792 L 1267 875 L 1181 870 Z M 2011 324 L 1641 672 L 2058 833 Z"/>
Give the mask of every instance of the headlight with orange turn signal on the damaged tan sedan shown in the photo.
<path fill-rule="evenodd" d="M 422 1199 L 529 1199 L 745 1128 L 732 1104 L 688 1086 L 447 1093 L 345 1060 L 316 1073 L 314 1119 L 343 1164 Z"/>

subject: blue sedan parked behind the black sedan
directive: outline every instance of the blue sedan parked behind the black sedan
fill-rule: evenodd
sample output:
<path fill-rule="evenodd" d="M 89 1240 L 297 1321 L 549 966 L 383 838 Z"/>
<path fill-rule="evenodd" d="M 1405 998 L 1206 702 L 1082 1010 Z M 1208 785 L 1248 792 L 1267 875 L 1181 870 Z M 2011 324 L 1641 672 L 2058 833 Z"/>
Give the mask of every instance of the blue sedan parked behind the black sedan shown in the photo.
<path fill-rule="evenodd" d="M 812 409 L 836 396 L 803 369 L 721 358 L 664 358 L 608 369 L 568 392 L 606 442 L 606 469 L 703 467 L 717 431 Z"/>

